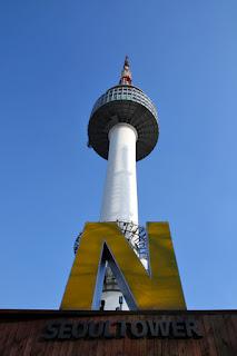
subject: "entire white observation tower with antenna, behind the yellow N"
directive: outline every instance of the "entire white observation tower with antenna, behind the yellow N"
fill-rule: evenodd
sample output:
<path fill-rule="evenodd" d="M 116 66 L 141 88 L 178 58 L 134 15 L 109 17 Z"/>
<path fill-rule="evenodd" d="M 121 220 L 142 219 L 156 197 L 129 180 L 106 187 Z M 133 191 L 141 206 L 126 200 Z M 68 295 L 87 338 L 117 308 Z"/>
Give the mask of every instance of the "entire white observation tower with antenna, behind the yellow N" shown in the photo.
<path fill-rule="evenodd" d="M 92 108 L 88 145 L 108 160 L 100 221 L 117 221 L 145 267 L 146 231 L 138 222 L 136 161 L 152 151 L 158 136 L 157 110 L 144 91 L 131 85 L 126 57 L 119 85 L 108 89 Z M 109 266 L 101 309 L 127 309 Z"/>

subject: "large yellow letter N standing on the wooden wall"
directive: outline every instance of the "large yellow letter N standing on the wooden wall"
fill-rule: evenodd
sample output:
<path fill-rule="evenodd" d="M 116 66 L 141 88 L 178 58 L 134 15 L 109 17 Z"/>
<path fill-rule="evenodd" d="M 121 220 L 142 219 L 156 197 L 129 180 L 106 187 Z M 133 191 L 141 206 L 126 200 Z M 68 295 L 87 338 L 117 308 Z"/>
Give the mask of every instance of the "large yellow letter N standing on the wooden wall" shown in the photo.
<path fill-rule="evenodd" d="M 86 224 L 61 309 L 98 308 L 105 260 L 130 309 L 186 309 L 168 224 L 148 222 L 147 233 L 150 275 L 116 222 Z"/>

